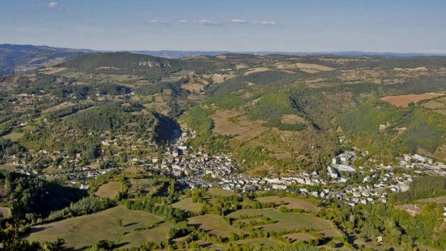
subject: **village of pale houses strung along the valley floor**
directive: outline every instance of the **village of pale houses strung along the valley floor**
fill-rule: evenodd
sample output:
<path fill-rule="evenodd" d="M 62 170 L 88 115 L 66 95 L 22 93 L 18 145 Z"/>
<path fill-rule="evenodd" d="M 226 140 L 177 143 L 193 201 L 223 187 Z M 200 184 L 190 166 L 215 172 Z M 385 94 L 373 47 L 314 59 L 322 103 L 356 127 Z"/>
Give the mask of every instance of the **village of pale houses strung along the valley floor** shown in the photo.
<path fill-rule="evenodd" d="M 338 199 L 341 203 L 355 206 L 356 204 L 368 204 L 375 201 L 387 202 L 390 192 L 406 191 L 413 177 L 423 173 L 427 175 L 446 175 L 446 165 L 435 162 L 432 158 L 422 155 L 403 155 L 399 165 L 374 165 L 371 169 L 358 169 L 353 167 L 353 161 L 357 156 L 354 151 L 344 151 L 332 158 L 327 165 L 326 173 L 314 171 L 302 172 L 295 176 L 282 177 L 251 177 L 238 172 L 238 164 L 230 155 L 209 155 L 205 149 L 193 151 L 187 145 L 189 137 L 194 137 L 194 132 L 183 132 L 178 139 L 166 147 L 160 156 L 147 157 L 145 159 L 130 158 L 129 165 L 138 167 L 144 172 L 155 172 L 164 176 L 176 178 L 178 183 L 188 188 L 220 187 L 224 190 L 238 190 L 240 192 L 252 192 L 256 190 L 285 190 L 296 194 L 318 197 L 320 199 Z M 105 139 L 101 135 L 103 146 L 118 146 L 120 148 L 139 148 L 146 144 L 137 141 L 130 144 L 128 140 L 132 136 L 116 136 L 114 139 Z M 137 143 L 137 144 L 135 144 Z M 151 144 L 153 145 L 153 144 Z M 367 154 L 363 153 L 363 155 Z M 110 162 L 107 156 L 97 160 L 94 165 L 82 165 L 81 154 L 75 156 L 63 153 L 22 153 L 21 156 L 6 156 L 6 164 L 16 167 L 17 172 L 26 175 L 43 176 L 47 179 L 64 178 L 72 186 L 81 189 L 89 188 L 89 181 L 106 174 L 114 168 L 125 169 L 114 162 Z M 41 173 L 31 168 L 31 163 L 26 160 L 36 158 L 61 158 L 63 164 L 56 167 L 58 172 Z M 107 166 L 100 166 L 100 162 L 107 161 Z M 47 167 L 47 166 L 43 166 Z M 399 170 L 396 174 L 396 169 Z M 355 175 L 352 175 L 355 174 Z M 352 176 L 360 177 L 359 180 Z"/>

